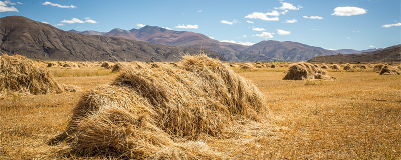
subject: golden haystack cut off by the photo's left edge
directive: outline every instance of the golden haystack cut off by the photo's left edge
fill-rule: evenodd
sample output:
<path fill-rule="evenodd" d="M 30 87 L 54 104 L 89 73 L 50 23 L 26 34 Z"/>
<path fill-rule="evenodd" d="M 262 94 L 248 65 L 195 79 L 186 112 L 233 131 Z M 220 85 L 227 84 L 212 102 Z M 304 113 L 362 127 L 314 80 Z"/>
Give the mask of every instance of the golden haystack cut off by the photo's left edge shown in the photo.
<path fill-rule="evenodd" d="M 61 93 L 51 73 L 21 55 L 0 56 L 0 92 Z"/>

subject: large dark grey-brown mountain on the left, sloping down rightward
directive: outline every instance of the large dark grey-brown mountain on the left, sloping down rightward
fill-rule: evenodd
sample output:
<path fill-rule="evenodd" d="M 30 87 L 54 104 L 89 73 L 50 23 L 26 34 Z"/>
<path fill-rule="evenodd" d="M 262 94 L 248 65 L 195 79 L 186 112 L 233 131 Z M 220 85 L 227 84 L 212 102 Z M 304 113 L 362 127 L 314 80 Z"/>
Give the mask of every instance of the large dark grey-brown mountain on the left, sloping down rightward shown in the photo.
<path fill-rule="evenodd" d="M 85 34 L 96 34 L 94 31 L 72 32 L 21 16 L 0 18 L 0 52 L 32 59 L 71 61 L 177 61 L 183 54 L 200 52 L 197 48 Z M 114 29 L 116 35 L 120 32 L 125 33 Z M 205 50 L 205 53 L 225 60 L 214 51 Z"/>

